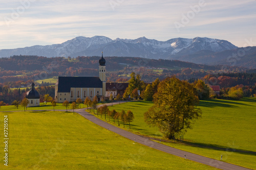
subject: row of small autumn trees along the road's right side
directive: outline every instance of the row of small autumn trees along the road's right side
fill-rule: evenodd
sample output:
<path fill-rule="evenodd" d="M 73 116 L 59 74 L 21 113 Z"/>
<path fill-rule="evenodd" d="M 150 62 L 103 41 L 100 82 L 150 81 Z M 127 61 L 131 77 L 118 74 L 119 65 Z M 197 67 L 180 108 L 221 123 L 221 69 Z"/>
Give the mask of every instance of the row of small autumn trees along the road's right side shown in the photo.
<path fill-rule="evenodd" d="M 104 115 L 105 119 L 106 119 L 106 114 L 108 114 L 109 121 L 110 121 L 110 117 L 113 118 L 114 123 L 115 123 L 115 120 L 117 120 L 118 126 L 120 126 L 119 120 L 123 122 L 123 127 L 124 127 L 124 123 L 129 123 L 129 127 L 131 129 L 131 122 L 133 122 L 133 119 L 134 119 L 134 114 L 131 110 L 128 110 L 126 113 L 124 110 L 122 110 L 121 112 L 118 112 L 115 109 L 110 111 L 108 106 L 103 105 L 97 109 L 97 115 L 98 113 L 100 113 L 101 118 L 102 118 L 102 115 Z"/>

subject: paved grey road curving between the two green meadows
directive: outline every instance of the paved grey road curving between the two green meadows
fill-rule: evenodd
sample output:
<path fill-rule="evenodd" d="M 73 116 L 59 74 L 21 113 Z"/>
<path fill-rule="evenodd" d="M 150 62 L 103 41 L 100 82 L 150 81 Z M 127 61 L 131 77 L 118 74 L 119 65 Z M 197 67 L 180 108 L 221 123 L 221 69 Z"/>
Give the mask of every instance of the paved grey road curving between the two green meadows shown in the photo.
<path fill-rule="evenodd" d="M 115 103 L 115 104 L 118 104 L 118 103 Z M 111 105 L 111 104 L 108 104 L 108 105 Z M 241 166 L 233 165 L 233 164 L 230 164 L 230 163 L 218 161 L 218 160 L 215 160 L 215 159 L 210 159 L 210 158 L 207 158 L 207 157 L 204 157 L 204 156 L 200 156 L 200 155 L 197 155 L 197 154 L 192 154 L 192 153 L 181 151 L 181 150 L 178 150 L 178 149 L 175 149 L 175 148 L 172 148 L 172 147 L 168 147 L 167 145 L 149 140 L 149 139 L 144 138 L 142 136 L 133 134 L 129 131 L 125 131 L 125 130 L 120 129 L 118 127 L 115 127 L 115 126 L 113 126 L 109 123 L 106 123 L 106 122 L 100 120 L 99 118 L 95 117 L 94 115 L 86 112 L 84 109 L 78 109 L 78 110 L 76 110 L 76 113 L 79 113 L 81 116 L 91 120 L 91 122 L 105 128 L 105 129 L 113 131 L 113 132 L 115 132 L 115 133 L 117 133 L 121 136 L 124 136 L 128 139 L 131 139 L 133 141 L 135 140 L 136 142 L 144 144 L 148 147 L 166 152 L 168 154 L 176 155 L 176 156 L 179 156 L 179 157 L 182 157 L 182 158 L 184 158 L 185 155 L 186 155 L 186 159 L 193 160 L 193 161 L 199 162 L 199 163 L 203 163 L 203 164 L 206 164 L 206 165 L 209 165 L 209 166 L 217 167 L 217 168 L 220 168 L 220 169 L 226 169 L 226 170 L 247 169 L 247 168 L 244 168 L 244 167 L 241 167 Z"/>

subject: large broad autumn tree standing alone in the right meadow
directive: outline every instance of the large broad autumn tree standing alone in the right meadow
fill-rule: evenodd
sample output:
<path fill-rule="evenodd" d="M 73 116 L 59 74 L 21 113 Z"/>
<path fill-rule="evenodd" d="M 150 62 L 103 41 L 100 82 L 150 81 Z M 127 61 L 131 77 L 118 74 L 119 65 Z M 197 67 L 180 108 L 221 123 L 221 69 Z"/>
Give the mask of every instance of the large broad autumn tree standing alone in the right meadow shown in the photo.
<path fill-rule="evenodd" d="M 166 78 L 158 85 L 154 105 L 144 113 L 145 122 L 159 128 L 169 139 L 191 129 L 191 121 L 201 116 L 202 111 L 193 85 L 176 77 Z"/>

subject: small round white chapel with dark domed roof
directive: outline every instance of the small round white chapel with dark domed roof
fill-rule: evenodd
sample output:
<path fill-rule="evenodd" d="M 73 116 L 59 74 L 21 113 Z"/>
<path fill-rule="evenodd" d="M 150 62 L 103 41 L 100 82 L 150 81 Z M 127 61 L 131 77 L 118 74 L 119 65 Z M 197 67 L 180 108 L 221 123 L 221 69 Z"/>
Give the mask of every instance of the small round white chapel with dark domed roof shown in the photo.
<path fill-rule="evenodd" d="M 35 89 L 35 84 L 31 84 L 32 88 L 26 93 L 26 98 L 29 100 L 27 107 L 39 106 L 40 105 L 40 95 Z"/>

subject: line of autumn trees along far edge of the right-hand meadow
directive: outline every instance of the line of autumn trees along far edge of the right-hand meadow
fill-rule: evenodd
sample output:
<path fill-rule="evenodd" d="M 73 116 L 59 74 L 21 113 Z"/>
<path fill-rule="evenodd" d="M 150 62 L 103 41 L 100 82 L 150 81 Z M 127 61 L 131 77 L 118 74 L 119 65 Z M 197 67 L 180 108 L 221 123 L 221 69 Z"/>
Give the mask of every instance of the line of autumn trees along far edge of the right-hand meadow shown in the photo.
<path fill-rule="evenodd" d="M 145 101 L 152 101 L 154 94 L 158 92 L 157 89 L 160 82 L 161 81 L 157 78 L 154 82 L 146 84 L 141 80 L 140 75 L 136 75 L 132 72 L 131 79 L 129 80 L 129 87 L 125 89 L 123 98 L 127 99 L 130 97 L 137 100 L 139 96 L 141 96 Z M 210 85 L 203 80 L 198 79 L 190 84 L 194 87 L 195 94 L 198 95 L 199 100 L 207 100 L 210 98 L 238 100 L 244 96 L 256 96 L 256 84 L 254 84 L 254 86 L 237 85 L 234 87 L 222 88 L 219 95 L 217 95 L 214 90 L 211 89 Z M 138 94 L 138 90 L 141 92 L 141 95 Z"/>

